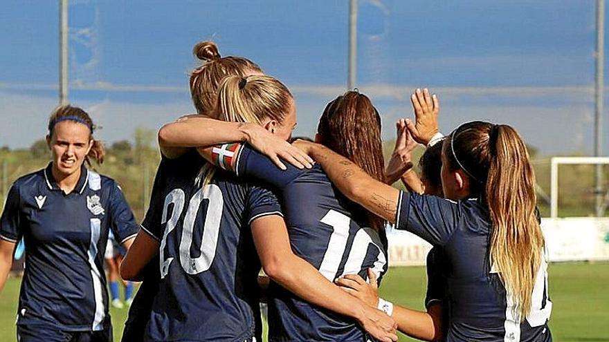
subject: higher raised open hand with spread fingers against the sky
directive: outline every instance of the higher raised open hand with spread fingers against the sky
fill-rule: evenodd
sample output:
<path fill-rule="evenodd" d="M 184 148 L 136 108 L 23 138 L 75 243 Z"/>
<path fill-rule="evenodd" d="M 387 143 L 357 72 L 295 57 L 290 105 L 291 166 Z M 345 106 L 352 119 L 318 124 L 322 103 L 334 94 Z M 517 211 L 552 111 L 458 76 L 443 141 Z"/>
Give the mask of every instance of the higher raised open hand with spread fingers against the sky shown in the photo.
<path fill-rule="evenodd" d="M 415 122 L 407 119 L 406 126 L 416 142 L 427 145 L 433 135 L 438 133 L 437 117 L 440 105 L 437 95 L 430 95 L 427 88 L 423 91 L 417 89 L 410 96 L 410 102 L 415 110 Z"/>

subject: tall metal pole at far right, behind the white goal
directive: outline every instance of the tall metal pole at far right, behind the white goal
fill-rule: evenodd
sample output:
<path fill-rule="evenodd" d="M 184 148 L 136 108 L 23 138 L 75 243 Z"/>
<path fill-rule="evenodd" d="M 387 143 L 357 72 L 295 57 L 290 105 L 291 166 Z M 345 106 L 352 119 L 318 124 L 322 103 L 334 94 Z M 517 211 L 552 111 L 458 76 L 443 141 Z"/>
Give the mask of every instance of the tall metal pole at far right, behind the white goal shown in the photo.
<path fill-rule="evenodd" d="M 594 157 L 603 153 L 603 63 L 605 61 L 605 0 L 597 0 L 597 53 L 596 53 L 596 83 L 594 86 Z M 603 205 L 603 169 L 597 165 L 594 173 L 595 209 L 601 216 Z"/>

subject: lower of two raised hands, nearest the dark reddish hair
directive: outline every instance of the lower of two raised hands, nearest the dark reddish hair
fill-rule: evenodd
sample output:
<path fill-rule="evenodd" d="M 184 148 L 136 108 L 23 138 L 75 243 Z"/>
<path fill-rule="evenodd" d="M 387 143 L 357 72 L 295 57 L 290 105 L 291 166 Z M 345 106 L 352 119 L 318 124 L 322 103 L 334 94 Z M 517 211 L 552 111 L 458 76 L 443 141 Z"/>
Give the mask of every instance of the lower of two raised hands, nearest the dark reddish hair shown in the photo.
<path fill-rule="evenodd" d="M 418 143 L 412 139 L 412 135 L 406 127 L 406 120 L 398 120 L 395 126 L 397 129 L 395 147 L 385 169 L 387 184 L 397 182 L 401 178 L 401 175 L 412 169 L 412 151 L 418 146 Z"/>

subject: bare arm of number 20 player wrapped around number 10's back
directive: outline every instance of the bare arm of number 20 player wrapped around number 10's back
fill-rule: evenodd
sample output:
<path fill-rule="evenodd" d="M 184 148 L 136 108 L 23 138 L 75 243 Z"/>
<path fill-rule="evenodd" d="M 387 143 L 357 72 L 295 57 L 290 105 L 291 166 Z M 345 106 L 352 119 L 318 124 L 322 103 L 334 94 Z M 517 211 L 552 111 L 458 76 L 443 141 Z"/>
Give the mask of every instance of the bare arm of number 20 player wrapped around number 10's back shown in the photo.
<path fill-rule="evenodd" d="M 397 341 L 393 319 L 349 296 L 293 254 L 281 216 L 257 218 L 251 223 L 251 229 L 264 272 L 273 281 L 309 303 L 356 319 L 379 341 Z"/>

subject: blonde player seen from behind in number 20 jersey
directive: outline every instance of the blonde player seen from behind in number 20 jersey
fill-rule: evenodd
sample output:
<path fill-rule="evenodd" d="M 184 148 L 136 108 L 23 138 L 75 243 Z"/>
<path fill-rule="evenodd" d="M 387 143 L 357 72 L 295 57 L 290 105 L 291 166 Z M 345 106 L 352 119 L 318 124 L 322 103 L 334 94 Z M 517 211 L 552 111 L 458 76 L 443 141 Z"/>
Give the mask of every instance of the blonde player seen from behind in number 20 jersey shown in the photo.
<path fill-rule="evenodd" d="M 261 126 L 287 140 L 296 123 L 291 94 L 272 77 L 226 77 L 219 88 L 217 112 L 235 121 L 224 122 L 232 129 L 226 131 L 226 141 L 260 135 Z M 172 126 L 190 120 L 196 119 Z M 227 160 L 230 152 L 219 151 Z M 124 276 L 136 276 L 160 246 L 163 281 L 154 300 L 149 341 L 253 341 L 259 336 L 256 251 L 265 272 L 298 296 L 354 317 L 383 341 L 397 339 L 385 331 L 392 330 L 388 318 L 353 301 L 293 255 L 280 207 L 269 191 L 233 175 L 207 171 L 206 162 L 194 153 L 181 156 L 176 164 L 163 177 L 165 184 L 159 184 L 155 202 L 160 210 L 153 209 L 155 215 L 163 213 L 158 221 L 164 227 L 146 227 L 138 234 L 122 266 Z M 194 254 L 192 242 L 198 250 Z"/>

